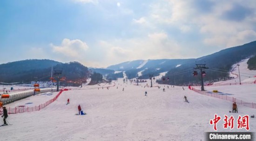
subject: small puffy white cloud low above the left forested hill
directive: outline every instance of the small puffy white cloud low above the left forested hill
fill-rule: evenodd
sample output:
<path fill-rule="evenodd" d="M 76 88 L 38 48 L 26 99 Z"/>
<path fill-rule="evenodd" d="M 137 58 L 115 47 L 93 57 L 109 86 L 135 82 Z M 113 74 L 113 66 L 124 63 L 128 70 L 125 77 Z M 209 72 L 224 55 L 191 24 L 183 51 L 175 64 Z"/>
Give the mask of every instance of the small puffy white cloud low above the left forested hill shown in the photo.
<path fill-rule="evenodd" d="M 64 38 L 60 46 L 53 44 L 50 44 L 50 46 L 53 52 L 71 58 L 82 58 L 88 49 L 88 45 L 85 42 L 79 39 L 70 40 L 68 38 Z"/>

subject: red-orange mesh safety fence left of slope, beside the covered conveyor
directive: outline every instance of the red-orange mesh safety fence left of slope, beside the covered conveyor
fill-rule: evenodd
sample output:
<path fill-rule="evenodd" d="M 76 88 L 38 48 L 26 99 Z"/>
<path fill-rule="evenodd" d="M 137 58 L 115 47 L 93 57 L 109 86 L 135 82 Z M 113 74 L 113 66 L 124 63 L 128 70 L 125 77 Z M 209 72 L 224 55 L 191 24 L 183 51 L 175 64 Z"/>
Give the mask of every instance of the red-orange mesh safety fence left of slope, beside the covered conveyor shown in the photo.
<path fill-rule="evenodd" d="M 48 100 L 46 103 L 40 104 L 39 106 L 34 106 L 34 107 L 28 107 L 28 106 L 18 106 L 14 108 L 6 108 L 8 111 L 8 114 L 17 114 L 17 113 L 24 113 L 24 112 L 34 112 L 34 111 L 39 111 L 40 109 L 45 108 L 47 105 L 53 103 L 63 91 L 68 90 L 68 89 L 62 89 L 53 99 Z M 0 114 L 3 113 L 3 109 L 0 109 Z"/>

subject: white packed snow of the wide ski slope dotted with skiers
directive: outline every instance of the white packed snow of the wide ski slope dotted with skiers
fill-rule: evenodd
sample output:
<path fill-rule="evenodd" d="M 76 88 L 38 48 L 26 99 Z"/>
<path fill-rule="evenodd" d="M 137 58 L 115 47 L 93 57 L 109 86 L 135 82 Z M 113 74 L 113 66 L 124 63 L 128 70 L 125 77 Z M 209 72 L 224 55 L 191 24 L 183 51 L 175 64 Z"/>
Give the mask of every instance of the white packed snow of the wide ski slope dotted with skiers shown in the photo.
<path fill-rule="evenodd" d="M 241 73 L 244 68 L 240 64 Z M 244 78 L 241 80 L 248 77 Z M 187 87 L 183 90 L 154 83 L 150 88 L 149 82 L 135 85 L 119 79 L 111 84 L 71 88 L 40 111 L 9 114 L 7 121 L 12 125 L 0 127 L 0 141 L 205 141 L 205 132 L 215 132 L 209 124 L 215 114 L 222 118 L 217 123 L 218 132 L 256 132 L 255 118 L 249 118 L 249 131 L 237 129 L 236 123 L 239 115 L 256 115 L 256 109 L 238 104 L 239 113 L 229 113 L 232 102 L 204 96 Z M 205 90 L 256 102 L 256 84 L 206 86 Z M 40 105 L 57 93 L 42 93 L 4 106 L 8 110 Z M 184 102 L 184 96 L 189 103 Z M 87 115 L 75 115 L 79 104 Z M 223 128 L 224 115 L 234 116 L 233 129 Z"/>

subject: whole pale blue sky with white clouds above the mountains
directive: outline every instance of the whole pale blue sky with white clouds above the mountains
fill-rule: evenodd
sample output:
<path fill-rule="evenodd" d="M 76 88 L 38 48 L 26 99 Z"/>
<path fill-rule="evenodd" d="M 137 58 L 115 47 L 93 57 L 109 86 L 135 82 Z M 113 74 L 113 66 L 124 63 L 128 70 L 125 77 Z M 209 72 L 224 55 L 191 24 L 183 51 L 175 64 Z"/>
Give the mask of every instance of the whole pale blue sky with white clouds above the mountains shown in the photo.
<path fill-rule="evenodd" d="M 198 58 L 255 40 L 255 0 L 0 0 L 0 64 L 107 67 Z"/>

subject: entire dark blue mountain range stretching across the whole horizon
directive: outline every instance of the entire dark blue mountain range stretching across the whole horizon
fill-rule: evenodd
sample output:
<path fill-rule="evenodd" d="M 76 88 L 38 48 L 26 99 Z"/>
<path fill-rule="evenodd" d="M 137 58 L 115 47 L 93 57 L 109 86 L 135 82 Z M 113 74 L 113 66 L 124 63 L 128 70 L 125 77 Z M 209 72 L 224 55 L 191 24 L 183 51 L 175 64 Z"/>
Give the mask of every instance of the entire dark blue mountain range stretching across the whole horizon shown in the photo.
<path fill-rule="evenodd" d="M 209 67 L 208 70 L 204 70 L 207 74 L 205 77 L 206 81 L 216 81 L 229 79 L 229 71 L 233 64 L 236 64 L 245 58 L 251 58 L 254 56 L 256 56 L 256 41 L 227 48 L 200 58 L 139 59 L 110 65 L 105 69 L 88 69 L 88 67 L 80 64 L 79 62 L 71 62 L 64 65 L 64 63 L 49 59 L 27 59 L 0 64 L 0 71 L 3 72 L 0 74 L 0 82 L 12 83 L 17 81 L 33 80 L 36 75 L 49 75 L 52 66 L 62 65 L 62 68 L 68 68 L 69 71 L 74 71 L 74 73 L 70 73 L 69 71 L 66 72 L 68 75 L 73 74 L 76 76 L 70 76 L 73 77 L 73 81 L 78 80 L 79 77 L 81 77 L 80 79 L 88 77 L 89 71 L 91 74 L 93 72 L 101 73 L 101 75 L 108 80 L 116 80 L 117 78 L 124 77 L 123 71 L 125 71 L 128 79 L 148 79 L 149 75 L 153 75 L 153 77 L 155 77 L 162 72 L 167 72 L 165 77 L 170 78 L 170 81 L 164 83 L 188 85 L 189 83 L 199 82 L 198 78 L 195 79 L 195 77 L 191 77 L 192 72 L 195 71 L 193 68 L 195 67 L 196 62 L 205 62 L 206 66 Z M 216 69 L 219 70 L 219 72 L 217 72 Z M 119 72 L 115 73 L 117 71 Z M 20 73 L 23 74 L 22 78 L 18 77 L 18 74 Z M 162 81 L 158 82 L 163 83 Z"/>

